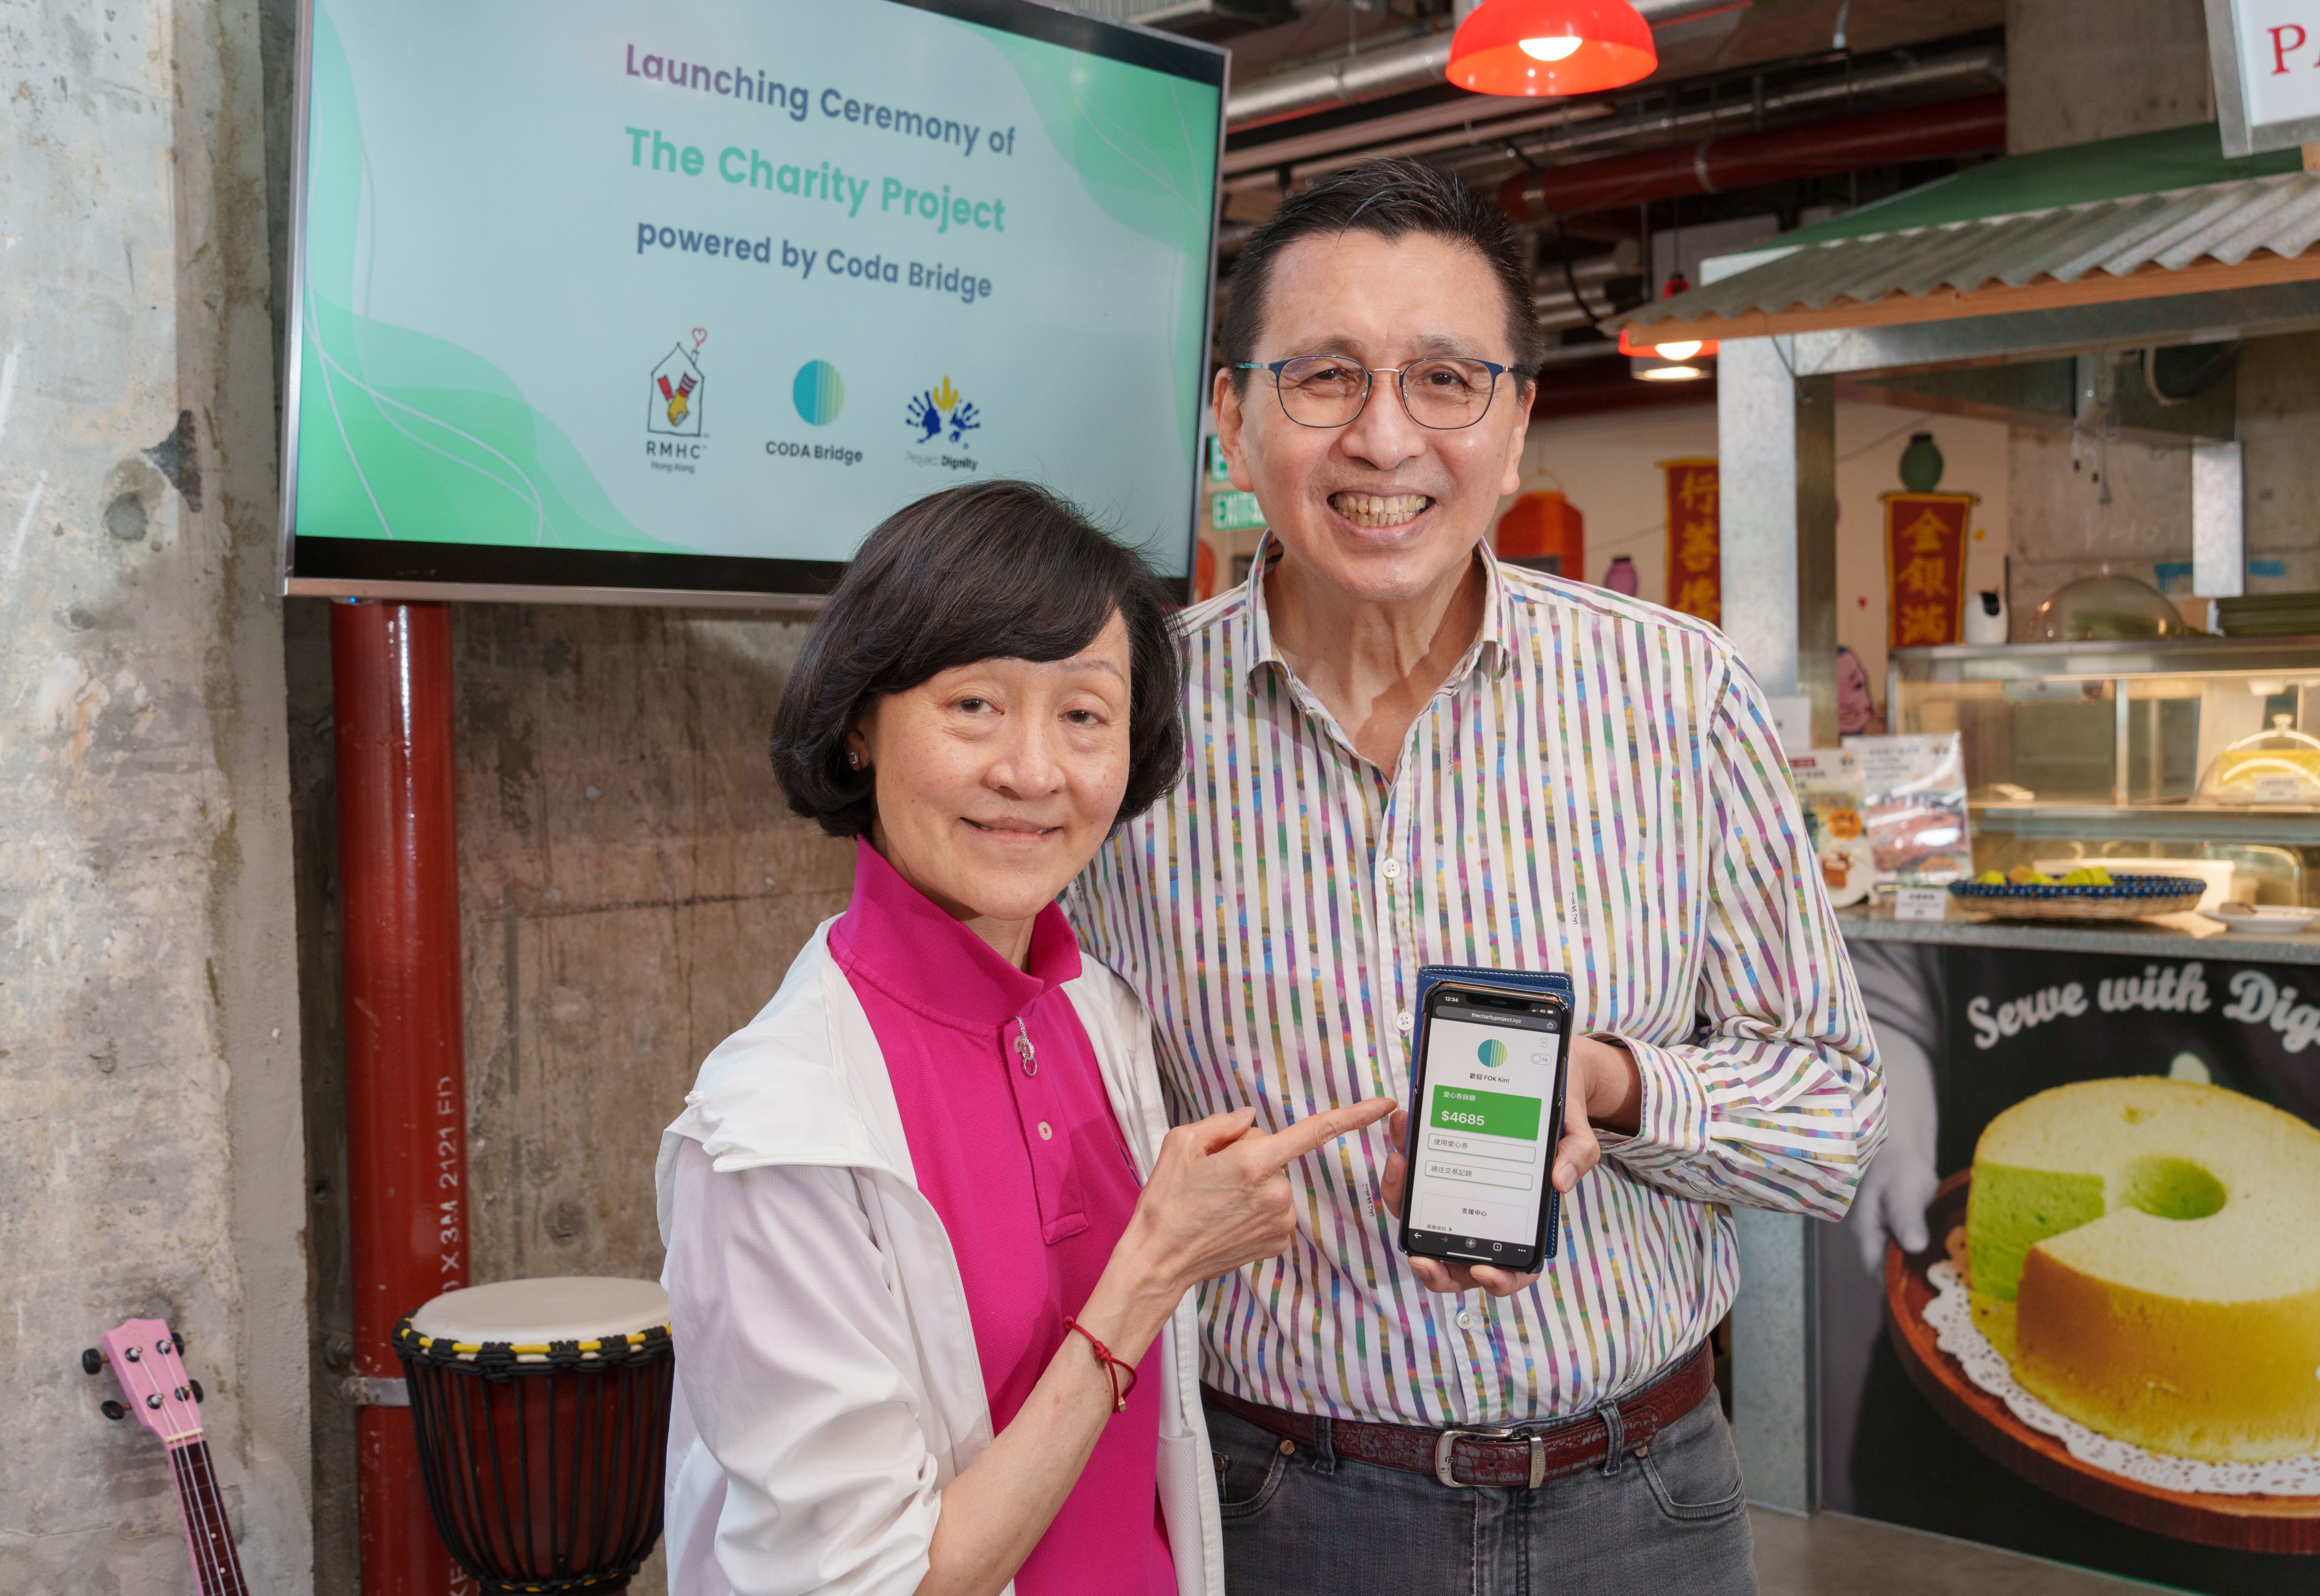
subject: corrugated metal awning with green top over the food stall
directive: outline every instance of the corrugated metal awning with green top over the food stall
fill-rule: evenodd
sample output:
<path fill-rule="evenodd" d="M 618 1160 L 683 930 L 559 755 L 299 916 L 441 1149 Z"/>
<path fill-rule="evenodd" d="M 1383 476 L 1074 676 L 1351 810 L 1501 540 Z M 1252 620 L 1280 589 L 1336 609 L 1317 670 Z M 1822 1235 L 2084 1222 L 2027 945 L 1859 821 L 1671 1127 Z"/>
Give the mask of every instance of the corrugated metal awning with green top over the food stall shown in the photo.
<path fill-rule="evenodd" d="M 2297 167 L 2225 160 L 2213 125 L 2018 155 L 1786 234 L 1626 320 L 1668 343 L 2320 283 L 2320 174 Z"/>

